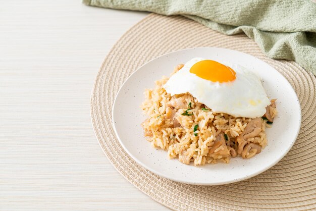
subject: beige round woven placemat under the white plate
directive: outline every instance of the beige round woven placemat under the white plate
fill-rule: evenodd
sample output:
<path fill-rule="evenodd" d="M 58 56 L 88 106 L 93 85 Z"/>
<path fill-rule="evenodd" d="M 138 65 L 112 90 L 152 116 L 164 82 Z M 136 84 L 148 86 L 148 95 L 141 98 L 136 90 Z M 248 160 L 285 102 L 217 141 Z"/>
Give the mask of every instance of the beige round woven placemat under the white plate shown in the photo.
<path fill-rule="evenodd" d="M 202 46 L 239 50 L 269 63 L 287 78 L 299 97 L 302 124 L 294 146 L 282 161 L 256 177 L 220 186 L 173 182 L 132 160 L 113 131 L 112 105 L 133 71 L 167 52 Z M 243 34 L 226 36 L 180 16 L 151 14 L 127 31 L 104 60 L 93 87 L 91 117 L 96 137 L 113 166 L 139 190 L 172 209 L 315 209 L 315 87 L 312 74 L 294 62 L 265 57 L 256 43 Z"/>

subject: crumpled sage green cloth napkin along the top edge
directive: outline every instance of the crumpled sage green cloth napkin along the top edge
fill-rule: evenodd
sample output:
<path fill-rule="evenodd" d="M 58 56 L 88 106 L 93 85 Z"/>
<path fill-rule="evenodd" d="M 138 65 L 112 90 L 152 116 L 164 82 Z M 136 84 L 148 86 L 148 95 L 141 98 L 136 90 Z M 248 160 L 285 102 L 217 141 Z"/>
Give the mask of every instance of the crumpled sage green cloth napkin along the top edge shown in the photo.
<path fill-rule="evenodd" d="M 83 0 L 90 6 L 182 15 L 227 35 L 244 32 L 268 57 L 316 75 L 316 4 L 310 0 Z"/>

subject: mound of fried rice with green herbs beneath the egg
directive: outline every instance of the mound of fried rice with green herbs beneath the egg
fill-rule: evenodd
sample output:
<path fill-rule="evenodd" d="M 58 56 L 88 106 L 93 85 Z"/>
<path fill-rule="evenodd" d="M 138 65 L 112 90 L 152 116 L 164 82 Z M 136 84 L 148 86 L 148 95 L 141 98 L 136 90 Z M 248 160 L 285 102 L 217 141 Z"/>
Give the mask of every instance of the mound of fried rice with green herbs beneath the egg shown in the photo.
<path fill-rule="evenodd" d="M 167 81 L 168 78 L 163 77 L 155 81 L 154 89 L 145 90 L 146 99 L 141 108 L 148 116 L 142 123 L 144 136 L 152 146 L 168 151 L 170 159 L 178 158 L 184 164 L 193 161 L 194 166 L 229 163 L 232 156 L 241 156 L 241 153 L 237 153 L 241 144 L 245 146 L 254 143 L 262 149 L 267 145 L 267 120 L 260 118 L 261 132 L 246 139 L 246 143 L 239 143 L 236 139 L 251 121 L 250 118 L 214 113 L 189 93 L 171 96 L 163 88 Z M 187 108 L 173 108 L 174 112 L 182 115 L 176 115 L 172 119 L 168 114 L 168 103 L 180 97 L 185 99 Z M 276 109 L 273 110 L 273 117 L 275 115 Z M 175 127 L 174 121 L 178 121 L 181 126 Z M 258 152 L 260 151 L 252 148 L 242 157 L 249 159 Z"/>

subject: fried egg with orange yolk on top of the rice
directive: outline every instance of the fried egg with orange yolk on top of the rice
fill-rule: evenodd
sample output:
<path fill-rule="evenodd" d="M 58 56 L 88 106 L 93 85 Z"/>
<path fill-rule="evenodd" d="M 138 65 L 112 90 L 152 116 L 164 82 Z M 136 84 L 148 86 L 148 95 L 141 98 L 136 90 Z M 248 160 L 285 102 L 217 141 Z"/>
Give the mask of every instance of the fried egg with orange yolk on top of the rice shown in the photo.
<path fill-rule="evenodd" d="M 190 93 L 215 113 L 257 118 L 270 104 L 261 80 L 237 64 L 194 58 L 164 85 L 171 95 Z"/>

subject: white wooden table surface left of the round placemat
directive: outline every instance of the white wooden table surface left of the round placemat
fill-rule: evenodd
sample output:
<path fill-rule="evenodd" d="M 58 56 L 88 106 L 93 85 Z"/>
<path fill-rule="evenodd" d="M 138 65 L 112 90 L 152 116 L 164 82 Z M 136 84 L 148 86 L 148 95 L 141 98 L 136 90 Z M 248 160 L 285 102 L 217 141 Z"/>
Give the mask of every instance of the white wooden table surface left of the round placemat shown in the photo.
<path fill-rule="evenodd" d="M 0 210 L 168 210 L 112 167 L 90 120 L 104 57 L 146 15 L 1 1 Z"/>

